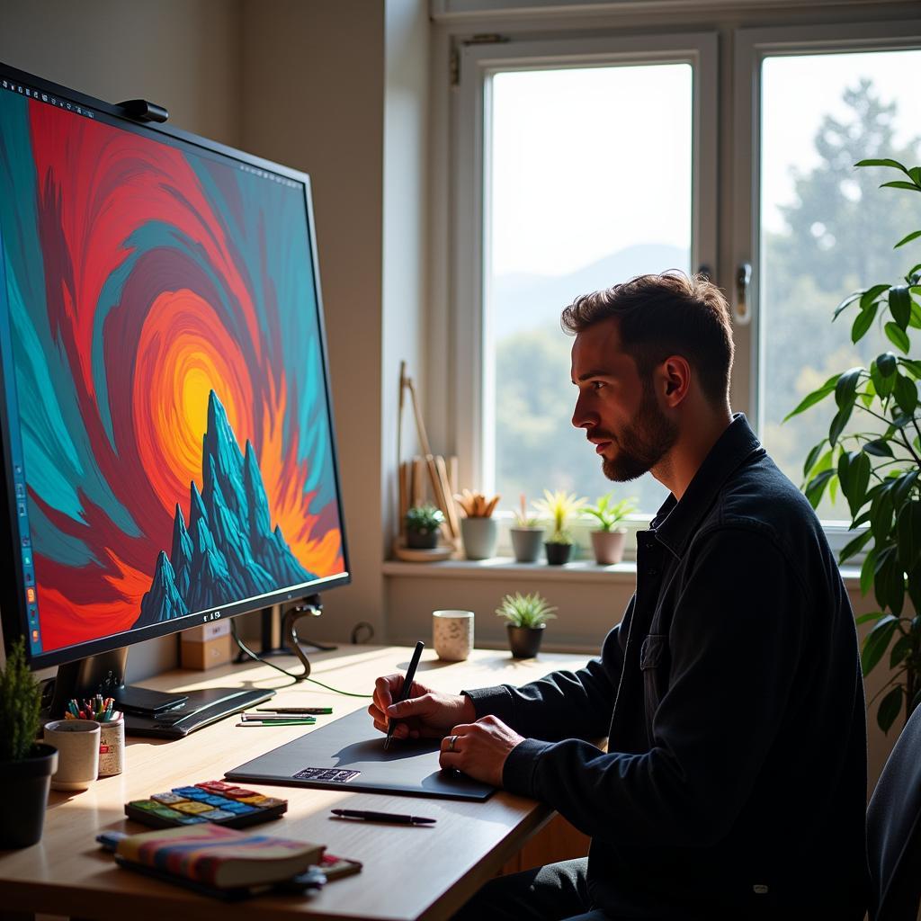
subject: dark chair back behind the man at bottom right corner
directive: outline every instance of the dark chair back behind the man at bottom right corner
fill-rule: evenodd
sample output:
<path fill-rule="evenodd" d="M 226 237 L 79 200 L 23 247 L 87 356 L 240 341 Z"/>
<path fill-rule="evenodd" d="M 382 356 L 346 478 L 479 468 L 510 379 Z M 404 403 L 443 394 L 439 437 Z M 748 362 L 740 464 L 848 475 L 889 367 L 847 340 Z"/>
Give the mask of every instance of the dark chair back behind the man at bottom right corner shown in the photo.
<path fill-rule="evenodd" d="M 921 706 L 895 742 L 867 808 L 870 921 L 916 921 L 921 904 Z"/>

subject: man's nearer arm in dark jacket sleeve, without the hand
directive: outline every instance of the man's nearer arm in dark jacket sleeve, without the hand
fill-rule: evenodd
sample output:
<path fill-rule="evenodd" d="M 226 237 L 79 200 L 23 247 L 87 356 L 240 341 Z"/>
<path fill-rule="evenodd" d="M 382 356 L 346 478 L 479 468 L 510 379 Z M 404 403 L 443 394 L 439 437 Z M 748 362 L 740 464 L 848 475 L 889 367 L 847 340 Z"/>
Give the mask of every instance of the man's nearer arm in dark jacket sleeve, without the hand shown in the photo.
<path fill-rule="evenodd" d="M 624 845 L 701 845 L 727 834 L 790 717 L 812 612 L 761 534 L 721 531 L 697 553 L 671 624 L 670 687 L 651 750 L 604 753 L 580 740 L 529 738 L 507 754 L 504 787 Z M 764 571 L 777 576 L 768 584 Z"/>

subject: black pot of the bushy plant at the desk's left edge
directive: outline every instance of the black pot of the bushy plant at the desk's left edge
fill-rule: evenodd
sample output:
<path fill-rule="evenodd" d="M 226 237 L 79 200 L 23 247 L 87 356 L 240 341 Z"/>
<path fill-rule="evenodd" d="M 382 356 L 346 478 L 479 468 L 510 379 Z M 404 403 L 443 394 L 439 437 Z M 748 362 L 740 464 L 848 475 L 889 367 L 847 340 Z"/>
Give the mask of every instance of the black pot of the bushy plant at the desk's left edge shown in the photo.
<path fill-rule="evenodd" d="M 42 743 L 32 746 L 22 761 L 0 762 L 0 850 L 29 847 L 41 841 L 45 806 L 52 774 L 57 770 L 57 749 Z"/>

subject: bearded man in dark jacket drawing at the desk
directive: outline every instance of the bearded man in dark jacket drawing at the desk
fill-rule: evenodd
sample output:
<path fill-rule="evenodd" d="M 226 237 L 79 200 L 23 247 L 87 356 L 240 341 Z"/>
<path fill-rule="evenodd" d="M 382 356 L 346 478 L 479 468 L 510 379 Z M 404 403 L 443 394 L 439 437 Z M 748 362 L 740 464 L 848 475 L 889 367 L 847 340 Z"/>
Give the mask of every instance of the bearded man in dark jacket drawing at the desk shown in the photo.
<path fill-rule="evenodd" d="M 717 287 L 642 275 L 579 297 L 573 425 L 605 474 L 671 495 L 600 659 L 459 695 L 402 676 L 369 708 L 441 764 L 542 799 L 589 857 L 502 877 L 460 917 L 859 921 L 866 717 L 853 616 L 818 519 L 729 410 Z M 591 740 L 607 737 L 607 752 Z"/>

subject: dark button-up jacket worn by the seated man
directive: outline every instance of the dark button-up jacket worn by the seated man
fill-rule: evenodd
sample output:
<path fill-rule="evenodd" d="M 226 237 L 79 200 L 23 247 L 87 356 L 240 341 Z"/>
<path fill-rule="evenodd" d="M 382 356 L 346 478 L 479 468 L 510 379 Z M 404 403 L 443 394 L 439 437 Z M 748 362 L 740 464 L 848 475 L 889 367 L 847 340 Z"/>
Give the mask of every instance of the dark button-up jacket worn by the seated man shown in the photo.
<path fill-rule="evenodd" d="M 863 682 L 809 503 L 737 415 L 637 539 L 600 659 L 466 692 L 527 737 L 503 785 L 591 835 L 612 916 L 860 921 Z"/>

